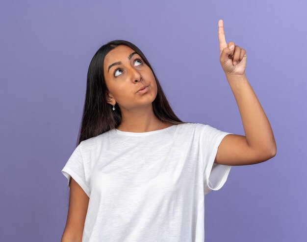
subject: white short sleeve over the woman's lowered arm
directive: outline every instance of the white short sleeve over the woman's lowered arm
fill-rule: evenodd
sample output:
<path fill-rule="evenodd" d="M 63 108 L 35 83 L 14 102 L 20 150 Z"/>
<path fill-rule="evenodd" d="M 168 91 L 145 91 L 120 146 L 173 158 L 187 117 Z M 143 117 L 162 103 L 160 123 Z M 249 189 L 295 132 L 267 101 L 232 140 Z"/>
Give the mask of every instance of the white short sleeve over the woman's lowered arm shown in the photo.
<path fill-rule="evenodd" d="M 73 177 L 74 180 L 86 193 L 86 195 L 90 197 L 90 188 L 86 180 L 84 162 L 81 153 L 81 143 L 77 146 L 73 154 L 70 156 L 61 172 L 68 179 L 67 185 L 69 188 L 70 177 Z"/>

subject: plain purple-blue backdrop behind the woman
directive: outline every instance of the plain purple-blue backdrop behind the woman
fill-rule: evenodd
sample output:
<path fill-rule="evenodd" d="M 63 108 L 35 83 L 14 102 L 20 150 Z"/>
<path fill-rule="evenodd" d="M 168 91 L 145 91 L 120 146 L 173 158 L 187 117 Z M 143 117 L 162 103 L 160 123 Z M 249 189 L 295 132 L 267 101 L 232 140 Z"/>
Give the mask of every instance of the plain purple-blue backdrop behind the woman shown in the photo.
<path fill-rule="evenodd" d="M 136 44 L 179 118 L 244 135 L 219 62 L 247 51 L 246 75 L 271 123 L 277 155 L 233 166 L 205 196 L 207 242 L 307 238 L 307 3 L 293 1 L 2 1 L 0 241 L 60 241 L 61 169 L 75 149 L 89 63 L 108 41 Z"/>

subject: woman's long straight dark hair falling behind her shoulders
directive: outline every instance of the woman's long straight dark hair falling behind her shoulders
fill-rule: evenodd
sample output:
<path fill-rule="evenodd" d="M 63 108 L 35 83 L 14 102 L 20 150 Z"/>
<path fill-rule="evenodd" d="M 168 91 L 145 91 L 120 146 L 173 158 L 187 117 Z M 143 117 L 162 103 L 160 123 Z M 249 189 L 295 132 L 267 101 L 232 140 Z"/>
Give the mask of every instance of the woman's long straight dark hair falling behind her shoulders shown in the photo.
<path fill-rule="evenodd" d="M 102 45 L 93 56 L 88 67 L 86 94 L 77 145 L 83 140 L 117 128 L 121 124 L 122 114 L 118 105 L 115 104 L 113 111 L 113 106 L 106 102 L 108 88 L 103 75 L 103 62 L 106 54 L 120 44 L 125 44 L 136 51 L 153 71 L 142 51 L 134 44 L 125 40 L 114 40 Z M 153 75 L 157 84 L 157 95 L 153 100 L 154 115 L 167 123 L 185 123 L 172 110 L 154 71 Z"/>

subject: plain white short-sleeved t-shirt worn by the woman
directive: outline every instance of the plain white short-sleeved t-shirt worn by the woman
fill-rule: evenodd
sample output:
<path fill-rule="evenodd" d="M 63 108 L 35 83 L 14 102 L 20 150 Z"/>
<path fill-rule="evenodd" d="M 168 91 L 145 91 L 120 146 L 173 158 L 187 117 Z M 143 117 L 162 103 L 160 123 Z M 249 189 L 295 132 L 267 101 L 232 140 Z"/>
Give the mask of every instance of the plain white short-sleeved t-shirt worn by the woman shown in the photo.
<path fill-rule="evenodd" d="M 204 196 L 231 168 L 213 163 L 227 134 L 184 123 L 82 141 L 61 171 L 90 198 L 82 242 L 204 242 Z"/>

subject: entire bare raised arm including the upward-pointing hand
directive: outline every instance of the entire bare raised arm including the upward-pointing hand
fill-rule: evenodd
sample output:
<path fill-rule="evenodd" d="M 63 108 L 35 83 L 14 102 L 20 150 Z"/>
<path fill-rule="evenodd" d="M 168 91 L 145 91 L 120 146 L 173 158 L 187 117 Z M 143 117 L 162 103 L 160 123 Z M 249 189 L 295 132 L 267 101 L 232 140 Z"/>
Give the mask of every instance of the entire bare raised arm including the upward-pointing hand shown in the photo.
<path fill-rule="evenodd" d="M 251 165 L 266 161 L 277 153 L 269 120 L 245 75 L 246 51 L 233 42 L 226 43 L 224 22 L 218 22 L 220 62 L 238 105 L 244 135 L 228 134 L 221 141 L 214 162 L 223 165 Z"/>

